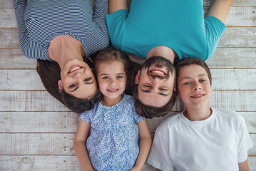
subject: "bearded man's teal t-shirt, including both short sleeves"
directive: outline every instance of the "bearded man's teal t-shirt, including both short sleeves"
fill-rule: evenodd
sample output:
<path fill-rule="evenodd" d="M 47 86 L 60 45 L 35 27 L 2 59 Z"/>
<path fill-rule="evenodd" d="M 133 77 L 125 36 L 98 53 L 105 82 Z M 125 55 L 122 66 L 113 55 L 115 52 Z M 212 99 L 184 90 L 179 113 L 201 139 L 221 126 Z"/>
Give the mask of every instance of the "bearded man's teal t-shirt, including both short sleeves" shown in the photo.
<path fill-rule="evenodd" d="M 144 58 L 150 49 L 168 46 L 180 59 L 206 60 L 226 28 L 213 16 L 204 19 L 202 0 L 136 0 L 130 12 L 118 10 L 106 21 L 113 46 Z"/>

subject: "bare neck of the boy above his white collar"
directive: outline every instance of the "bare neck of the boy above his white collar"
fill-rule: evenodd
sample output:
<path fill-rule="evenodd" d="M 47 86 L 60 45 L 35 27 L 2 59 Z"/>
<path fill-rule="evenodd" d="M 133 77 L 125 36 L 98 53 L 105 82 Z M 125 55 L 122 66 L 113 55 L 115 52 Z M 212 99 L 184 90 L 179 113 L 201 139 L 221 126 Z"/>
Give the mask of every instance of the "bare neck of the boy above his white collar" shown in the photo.
<path fill-rule="evenodd" d="M 209 105 L 202 107 L 202 108 L 186 108 L 183 115 L 188 120 L 205 120 L 212 115 L 213 110 L 210 108 Z"/>

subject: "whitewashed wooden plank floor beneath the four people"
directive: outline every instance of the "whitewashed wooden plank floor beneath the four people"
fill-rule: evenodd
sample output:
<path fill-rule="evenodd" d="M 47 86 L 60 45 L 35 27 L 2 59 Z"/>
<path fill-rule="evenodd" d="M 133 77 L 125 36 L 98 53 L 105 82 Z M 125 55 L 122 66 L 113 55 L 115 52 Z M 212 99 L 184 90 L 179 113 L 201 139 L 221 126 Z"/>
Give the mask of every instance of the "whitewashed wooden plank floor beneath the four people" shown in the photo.
<path fill-rule="evenodd" d="M 207 11 L 211 1 L 204 4 Z M 211 105 L 239 112 L 256 146 L 256 0 L 234 0 L 226 25 L 207 61 Z M 73 149 L 77 115 L 44 90 L 36 60 L 22 55 L 11 0 L 0 0 L 0 57 L 0 170 L 81 170 Z M 179 102 L 173 112 L 182 109 Z M 152 133 L 161 120 L 148 120 Z M 256 170 L 256 147 L 249 155 Z"/>

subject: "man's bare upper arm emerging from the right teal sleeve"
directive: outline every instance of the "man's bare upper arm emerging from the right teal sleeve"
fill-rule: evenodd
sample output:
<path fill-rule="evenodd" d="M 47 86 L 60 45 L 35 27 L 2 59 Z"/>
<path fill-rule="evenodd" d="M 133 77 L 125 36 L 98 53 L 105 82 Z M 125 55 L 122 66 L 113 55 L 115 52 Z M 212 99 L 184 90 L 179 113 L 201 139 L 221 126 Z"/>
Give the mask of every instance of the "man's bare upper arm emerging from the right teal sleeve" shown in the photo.
<path fill-rule="evenodd" d="M 215 16 L 217 19 L 220 19 L 222 23 L 225 23 L 227 18 L 228 11 L 230 11 L 230 6 L 232 0 L 215 0 L 213 1 L 210 10 L 208 11 L 208 16 Z"/>

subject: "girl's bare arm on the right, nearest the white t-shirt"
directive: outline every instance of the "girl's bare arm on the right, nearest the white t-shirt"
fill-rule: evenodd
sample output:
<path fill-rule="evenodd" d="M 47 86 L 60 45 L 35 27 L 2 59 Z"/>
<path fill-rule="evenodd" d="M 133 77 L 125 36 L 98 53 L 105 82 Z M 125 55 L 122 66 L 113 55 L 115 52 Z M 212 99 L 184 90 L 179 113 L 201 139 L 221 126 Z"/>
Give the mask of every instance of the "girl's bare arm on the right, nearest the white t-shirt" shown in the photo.
<path fill-rule="evenodd" d="M 151 147 L 152 138 L 148 128 L 148 122 L 146 119 L 137 123 L 139 135 L 140 135 L 140 152 L 138 153 L 135 166 L 131 170 L 142 170 L 145 160 L 147 160 L 148 152 Z"/>

